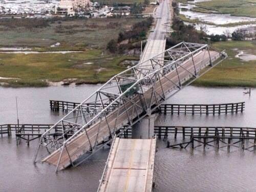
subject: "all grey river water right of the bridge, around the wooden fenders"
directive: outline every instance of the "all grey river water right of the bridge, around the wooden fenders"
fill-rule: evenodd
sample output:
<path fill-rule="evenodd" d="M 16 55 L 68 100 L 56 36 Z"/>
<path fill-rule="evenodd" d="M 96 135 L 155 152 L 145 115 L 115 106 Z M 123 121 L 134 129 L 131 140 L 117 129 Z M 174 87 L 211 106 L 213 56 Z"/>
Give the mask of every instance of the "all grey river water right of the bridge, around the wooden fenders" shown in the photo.
<path fill-rule="evenodd" d="M 255 90 L 249 97 L 244 89 L 220 89 L 187 87 L 170 98 L 167 103 L 226 103 L 245 101 L 243 114 L 234 115 L 166 115 L 158 117 L 156 125 L 208 125 L 249 126 L 256 124 Z M 169 138 L 173 139 L 173 138 Z M 191 150 L 165 148 L 159 142 L 156 154 L 154 191 L 255 191 L 254 181 L 256 154 L 232 148 L 231 153 L 223 148 L 198 147 Z"/>

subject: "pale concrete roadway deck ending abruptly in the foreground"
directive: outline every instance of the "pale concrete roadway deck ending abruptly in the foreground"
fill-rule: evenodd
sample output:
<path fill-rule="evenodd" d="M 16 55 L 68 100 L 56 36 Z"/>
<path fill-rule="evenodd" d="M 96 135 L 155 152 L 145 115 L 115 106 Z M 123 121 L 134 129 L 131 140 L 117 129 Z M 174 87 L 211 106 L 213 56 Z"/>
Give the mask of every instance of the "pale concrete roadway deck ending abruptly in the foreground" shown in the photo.
<path fill-rule="evenodd" d="M 151 191 L 156 139 L 116 138 L 99 192 Z"/>

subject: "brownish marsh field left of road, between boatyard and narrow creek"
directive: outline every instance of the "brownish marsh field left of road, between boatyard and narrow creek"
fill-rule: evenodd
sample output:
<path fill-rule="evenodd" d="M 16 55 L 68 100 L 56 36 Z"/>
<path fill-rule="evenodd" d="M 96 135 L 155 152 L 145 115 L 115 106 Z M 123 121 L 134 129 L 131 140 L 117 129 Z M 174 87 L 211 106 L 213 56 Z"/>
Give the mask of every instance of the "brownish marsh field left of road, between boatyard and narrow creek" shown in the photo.
<path fill-rule="evenodd" d="M 32 29 L 0 25 L 0 47 L 32 47 L 41 51 L 105 49 L 110 39 L 141 20 L 143 18 L 74 19 L 49 22 L 48 27 Z M 60 46 L 51 48 L 56 42 L 60 42 Z"/>

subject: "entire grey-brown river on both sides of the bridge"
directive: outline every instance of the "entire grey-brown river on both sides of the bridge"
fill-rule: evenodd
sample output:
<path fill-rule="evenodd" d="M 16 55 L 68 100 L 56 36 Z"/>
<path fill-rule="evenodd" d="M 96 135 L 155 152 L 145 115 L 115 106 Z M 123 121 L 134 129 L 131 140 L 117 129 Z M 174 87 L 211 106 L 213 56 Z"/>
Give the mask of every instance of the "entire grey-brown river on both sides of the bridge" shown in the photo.
<path fill-rule="evenodd" d="M 54 123 L 64 114 L 52 113 L 49 99 L 80 102 L 100 85 L 48 88 L 1 88 L 0 124 L 16 123 L 16 103 L 20 123 Z M 250 126 L 256 124 L 256 90 L 249 97 L 242 88 L 187 87 L 166 103 L 226 103 L 245 101 L 245 111 L 234 115 L 161 115 L 156 125 Z M 30 146 L 16 146 L 13 136 L 0 138 L 0 191 L 96 191 L 109 148 L 104 148 L 78 167 L 57 174 L 54 166 L 32 163 L 38 140 Z M 239 148 L 198 147 L 171 150 L 158 142 L 154 191 L 255 191 L 256 156 Z"/>

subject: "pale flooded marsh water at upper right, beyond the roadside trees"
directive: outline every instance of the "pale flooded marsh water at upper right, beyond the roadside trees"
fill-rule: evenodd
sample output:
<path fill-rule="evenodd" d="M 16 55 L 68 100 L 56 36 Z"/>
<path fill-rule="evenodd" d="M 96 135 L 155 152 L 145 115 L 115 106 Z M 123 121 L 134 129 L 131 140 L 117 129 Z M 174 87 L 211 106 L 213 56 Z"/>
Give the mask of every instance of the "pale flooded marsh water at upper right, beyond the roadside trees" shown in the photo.
<path fill-rule="evenodd" d="M 186 18 L 189 19 L 198 19 L 202 23 L 195 23 L 196 29 L 200 30 L 201 28 L 207 34 L 223 34 L 227 31 L 232 33 L 237 29 L 247 29 L 249 31 L 254 32 L 256 27 L 256 18 L 253 17 L 245 17 L 245 16 L 232 16 L 230 14 L 219 14 L 219 13 L 200 13 L 191 11 L 192 8 L 195 8 L 195 3 L 205 2 L 205 1 L 189 1 L 188 4 L 179 4 L 180 14 L 185 15 Z M 245 25 L 237 25 L 237 26 L 221 26 L 235 23 L 244 23 Z M 251 23 L 251 24 L 250 24 Z M 189 25 L 189 23 L 186 23 Z"/>

